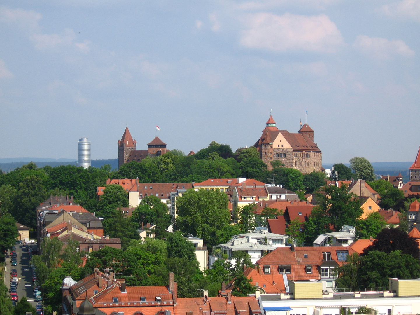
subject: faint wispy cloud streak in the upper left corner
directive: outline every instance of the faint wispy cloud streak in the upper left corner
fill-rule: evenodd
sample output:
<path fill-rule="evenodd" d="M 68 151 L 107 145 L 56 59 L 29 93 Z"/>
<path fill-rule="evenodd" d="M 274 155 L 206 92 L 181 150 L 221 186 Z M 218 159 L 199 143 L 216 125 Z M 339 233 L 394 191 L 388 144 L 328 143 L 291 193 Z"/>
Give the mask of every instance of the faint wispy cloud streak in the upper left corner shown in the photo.
<path fill-rule="evenodd" d="M 40 13 L 34 11 L 24 11 L 21 9 L 0 8 L 0 22 L 17 25 L 23 29 L 39 50 L 57 50 L 60 47 L 73 47 L 79 52 L 87 53 L 90 42 L 77 42 L 77 37 L 73 29 L 64 29 L 62 34 L 45 34 L 39 21 L 42 19 Z"/>

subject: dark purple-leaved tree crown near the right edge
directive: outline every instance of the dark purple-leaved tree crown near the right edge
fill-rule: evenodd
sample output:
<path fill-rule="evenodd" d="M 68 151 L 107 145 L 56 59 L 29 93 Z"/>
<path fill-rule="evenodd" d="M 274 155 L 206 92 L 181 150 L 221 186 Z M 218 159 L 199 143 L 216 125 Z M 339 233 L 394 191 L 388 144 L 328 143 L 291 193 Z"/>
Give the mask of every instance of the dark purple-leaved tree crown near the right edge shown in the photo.
<path fill-rule="evenodd" d="M 384 228 L 376 235 L 373 243 L 363 250 L 362 255 L 367 255 L 373 250 L 388 254 L 400 250 L 402 254 L 411 255 L 417 260 L 420 258 L 416 240 L 399 228 Z"/>

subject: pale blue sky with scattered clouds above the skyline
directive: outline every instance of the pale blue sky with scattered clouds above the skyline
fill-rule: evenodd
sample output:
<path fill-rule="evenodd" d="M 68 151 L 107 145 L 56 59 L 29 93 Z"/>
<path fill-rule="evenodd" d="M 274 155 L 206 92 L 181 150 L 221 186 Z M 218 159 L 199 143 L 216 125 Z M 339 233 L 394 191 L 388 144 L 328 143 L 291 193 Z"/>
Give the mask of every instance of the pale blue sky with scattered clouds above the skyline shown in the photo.
<path fill-rule="evenodd" d="M 235 151 L 305 108 L 325 164 L 420 145 L 420 0 L 3 0 L 0 30 L 0 158 Z"/>

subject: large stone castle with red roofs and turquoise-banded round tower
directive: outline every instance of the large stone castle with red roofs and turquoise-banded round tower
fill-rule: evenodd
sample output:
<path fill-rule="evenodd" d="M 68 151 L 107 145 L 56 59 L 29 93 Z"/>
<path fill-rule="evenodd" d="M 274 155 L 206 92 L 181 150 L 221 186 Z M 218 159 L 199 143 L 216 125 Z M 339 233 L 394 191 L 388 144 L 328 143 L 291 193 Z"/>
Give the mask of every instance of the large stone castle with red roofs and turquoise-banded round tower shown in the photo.
<path fill-rule="evenodd" d="M 279 161 L 286 168 L 296 168 L 302 173 L 320 172 L 322 152 L 314 142 L 314 131 L 305 123 L 297 134 L 278 130 L 270 115 L 260 139 L 254 144 L 260 157 L 272 169 L 271 162 Z"/>

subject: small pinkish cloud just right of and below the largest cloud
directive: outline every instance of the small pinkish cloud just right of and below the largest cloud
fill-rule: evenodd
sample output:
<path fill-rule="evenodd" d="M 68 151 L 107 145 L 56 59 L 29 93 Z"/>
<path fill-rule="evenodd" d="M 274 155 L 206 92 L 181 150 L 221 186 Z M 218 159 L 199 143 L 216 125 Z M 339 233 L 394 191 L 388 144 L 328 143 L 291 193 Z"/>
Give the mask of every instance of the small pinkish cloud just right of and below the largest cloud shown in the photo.
<path fill-rule="evenodd" d="M 353 46 L 364 55 L 378 61 L 388 60 L 398 56 L 413 57 L 415 55 L 414 51 L 401 39 L 389 41 L 386 38 L 359 35 Z"/>

